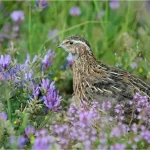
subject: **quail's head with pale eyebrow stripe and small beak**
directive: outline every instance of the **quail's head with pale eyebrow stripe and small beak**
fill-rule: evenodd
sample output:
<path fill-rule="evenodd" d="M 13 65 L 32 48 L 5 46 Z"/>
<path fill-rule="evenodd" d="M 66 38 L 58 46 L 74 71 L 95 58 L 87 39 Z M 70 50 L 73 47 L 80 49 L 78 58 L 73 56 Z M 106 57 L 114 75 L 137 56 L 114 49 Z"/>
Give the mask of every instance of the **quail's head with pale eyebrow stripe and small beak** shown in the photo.
<path fill-rule="evenodd" d="M 87 53 L 92 54 L 89 42 L 80 36 L 70 36 L 64 39 L 58 47 L 72 54 L 75 59 Z"/>

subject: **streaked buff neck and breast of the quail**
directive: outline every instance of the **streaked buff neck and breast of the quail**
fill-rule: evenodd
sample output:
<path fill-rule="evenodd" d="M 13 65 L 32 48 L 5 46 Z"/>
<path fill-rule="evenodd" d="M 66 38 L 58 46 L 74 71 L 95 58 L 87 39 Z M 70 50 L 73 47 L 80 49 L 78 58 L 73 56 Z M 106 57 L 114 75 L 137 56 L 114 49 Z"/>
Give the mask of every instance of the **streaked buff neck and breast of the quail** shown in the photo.
<path fill-rule="evenodd" d="M 73 64 L 73 89 L 76 103 L 80 105 L 82 100 L 87 100 L 86 87 L 92 83 L 107 77 L 110 68 L 101 62 L 97 62 L 93 54 L 80 56 Z"/>

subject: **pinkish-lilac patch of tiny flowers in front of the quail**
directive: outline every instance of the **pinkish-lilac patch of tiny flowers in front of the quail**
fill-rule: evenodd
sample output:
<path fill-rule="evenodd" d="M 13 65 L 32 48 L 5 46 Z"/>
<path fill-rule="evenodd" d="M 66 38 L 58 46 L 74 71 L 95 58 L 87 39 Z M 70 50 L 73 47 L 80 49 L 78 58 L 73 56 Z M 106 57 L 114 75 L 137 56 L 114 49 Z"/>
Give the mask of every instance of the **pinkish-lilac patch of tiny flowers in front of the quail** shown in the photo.
<path fill-rule="evenodd" d="M 137 108 L 139 106 L 144 108 L 141 110 L 142 113 L 145 112 L 145 108 L 149 109 L 147 97 L 136 93 L 132 105 L 135 105 L 134 101 L 136 101 Z M 101 106 L 94 102 L 90 108 L 86 103 L 83 103 L 80 108 L 76 105 L 71 105 L 68 110 L 70 121 L 51 127 L 51 135 L 58 140 L 55 142 L 58 142 L 62 149 L 71 148 L 70 146 L 72 145 L 73 147 L 87 150 L 96 148 L 111 150 L 135 149 L 142 140 L 146 143 L 150 142 L 150 130 L 140 124 L 140 119 L 139 124 L 134 122 L 130 126 L 122 122 L 126 119 L 122 104 L 117 104 L 114 109 L 114 113 L 118 114 L 118 117 L 124 115 L 123 119 L 119 119 L 119 122 L 116 116 L 103 116 L 99 111 L 100 108 L 107 113 L 112 108 L 112 105 L 109 101 L 103 102 Z M 120 142 L 120 139 L 125 140 L 129 132 L 132 133 L 129 141 L 126 144 Z M 108 144 L 109 138 L 112 139 L 112 144 L 110 145 Z"/>

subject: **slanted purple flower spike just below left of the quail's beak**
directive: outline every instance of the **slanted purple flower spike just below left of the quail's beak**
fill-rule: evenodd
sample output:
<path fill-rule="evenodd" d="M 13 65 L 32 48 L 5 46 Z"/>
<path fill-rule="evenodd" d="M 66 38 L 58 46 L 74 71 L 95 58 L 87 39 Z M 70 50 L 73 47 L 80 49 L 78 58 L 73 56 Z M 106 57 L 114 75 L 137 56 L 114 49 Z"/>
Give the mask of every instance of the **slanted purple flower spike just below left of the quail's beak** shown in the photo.
<path fill-rule="evenodd" d="M 51 50 L 48 50 L 44 59 L 42 60 L 42 69 L 47 70 L 49 66 L 52 64 L 53 59 L 56 57 L 56 54 Z"/>

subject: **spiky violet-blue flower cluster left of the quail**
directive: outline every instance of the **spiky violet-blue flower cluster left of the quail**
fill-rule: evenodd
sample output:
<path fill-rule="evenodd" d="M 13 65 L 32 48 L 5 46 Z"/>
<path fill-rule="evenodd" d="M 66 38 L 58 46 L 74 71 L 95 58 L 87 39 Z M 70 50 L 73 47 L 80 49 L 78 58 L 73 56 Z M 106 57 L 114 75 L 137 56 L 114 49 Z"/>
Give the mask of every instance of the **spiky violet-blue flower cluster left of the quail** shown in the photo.
<path fill-rule="evenodd" d="M 38 62 L 40 56 L 35 56 L 33 60 L 31 60 L 30 56 L 27 55 L 24 64 L 16 64 L 13 62 L 10 55 L 1 55 L 0 79 L 3 81 L 11 81 L 11 84 L 16 90 L 17 88 L 18 90 L 20 88 L 27 89 L 28 92 L 31 93 L 31 99 L 43 101 L 47 108 L 56 111 L 60 109 L 61 96 L 59 96 L 54 86 L 55 83 L 50 83 L 48 78 L 39 78 L 40 82 L 35 82 L 35 79 L 38 77 L 35 76 L 36 67 L 33 69 L 33 66 L 35 66 L 37 62 L 41 63 L 42 68 L 49 69 L 55 56 L 55 53 L 49 50 L 42 62 Z M 42 69 L 41 74 L 43 74 L 43 71 Z"/>

